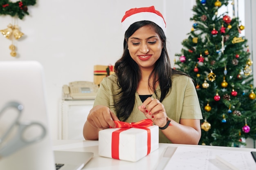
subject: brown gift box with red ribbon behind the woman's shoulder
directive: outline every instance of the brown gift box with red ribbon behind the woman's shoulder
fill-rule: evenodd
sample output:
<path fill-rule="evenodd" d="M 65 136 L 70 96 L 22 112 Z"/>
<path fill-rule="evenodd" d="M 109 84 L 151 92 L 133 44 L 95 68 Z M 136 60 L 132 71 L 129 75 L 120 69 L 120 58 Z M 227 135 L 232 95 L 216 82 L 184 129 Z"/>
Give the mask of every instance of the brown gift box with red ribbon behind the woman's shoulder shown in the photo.
<path fill-rule="evenodd" d="M 114 66 L 109 64 L 106 65 L 95 65 L 94 66 L 94 84 L 99 85 L 104 77 L 107 77 L 108 75 L 111 75 L 115 73 L 114 72 Z"/>

